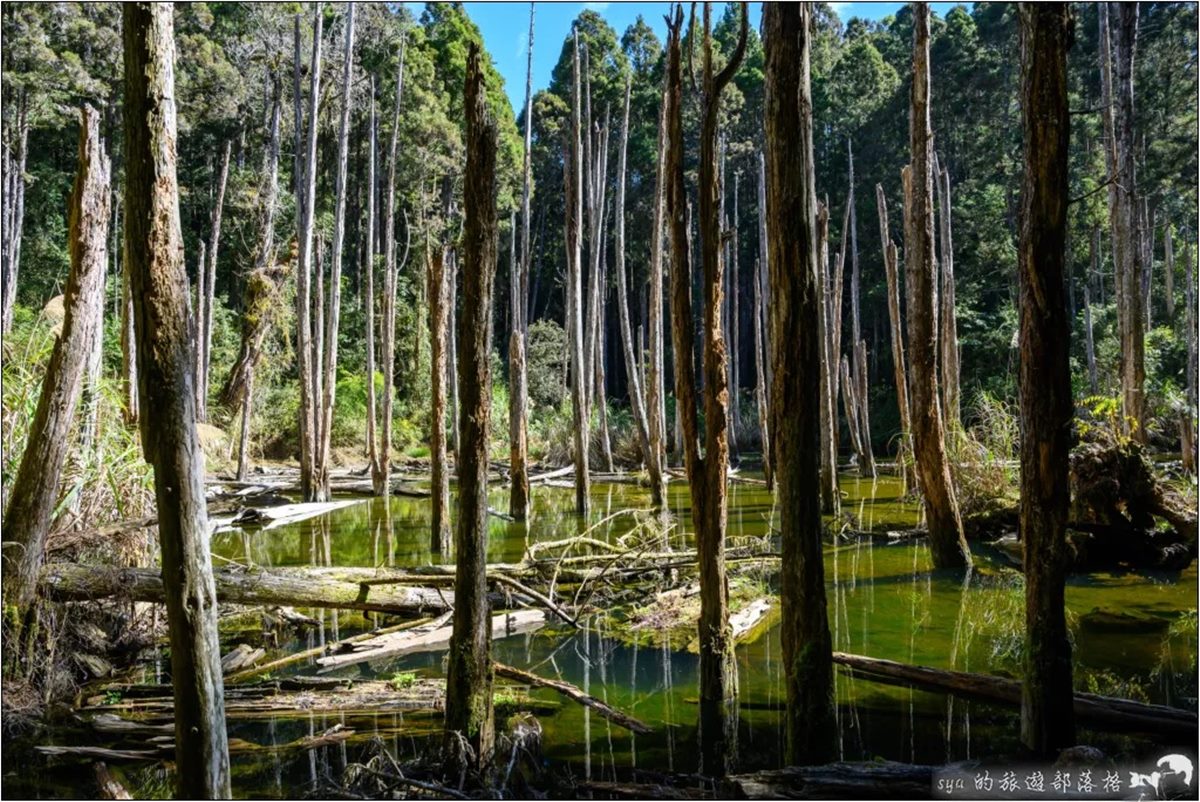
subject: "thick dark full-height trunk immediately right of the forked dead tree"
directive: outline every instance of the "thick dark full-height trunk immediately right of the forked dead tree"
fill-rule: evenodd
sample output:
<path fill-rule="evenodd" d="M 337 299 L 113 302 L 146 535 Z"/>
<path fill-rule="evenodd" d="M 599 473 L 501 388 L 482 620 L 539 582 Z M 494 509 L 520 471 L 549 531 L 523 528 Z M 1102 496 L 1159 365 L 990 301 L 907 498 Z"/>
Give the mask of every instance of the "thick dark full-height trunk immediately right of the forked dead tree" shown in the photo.
<path fill-rule="evenodd" d="M 833 642 L 821 549 L 821 361 L 817 198 L 806 5 L 763 10 L 767 226 L 775 333 L 772 429 L 779 459 L 782 644 L 788 764 L 834 758 Z"/>

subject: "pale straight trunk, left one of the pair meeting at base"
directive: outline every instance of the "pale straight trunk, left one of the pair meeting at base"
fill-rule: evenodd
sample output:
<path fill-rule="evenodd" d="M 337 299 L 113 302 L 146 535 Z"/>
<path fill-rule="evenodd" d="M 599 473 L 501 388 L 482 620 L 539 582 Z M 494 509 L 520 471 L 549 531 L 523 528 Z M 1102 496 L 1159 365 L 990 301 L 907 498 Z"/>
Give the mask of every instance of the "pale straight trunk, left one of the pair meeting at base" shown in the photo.
<path fill-rule="evenodd" d="M 300 17 L 295 18 L 295 163 L 296 163 L 296 221 L 299 231 L 296 256 L 296 359 L 300 373 L 300 496 L 304 501 L 318 501 L 319 484 L 316 484 L 317 466 L 317 375 L 313 360 L 312 327 L 312 262 L 313 229 L 317 191 L 317 110 L 320 101 L 320 40 L 324 14 L 319 8 L 313 14 L 312 59 L 308 65 L 308 138 L 301 143 L 300 74 Z"/>

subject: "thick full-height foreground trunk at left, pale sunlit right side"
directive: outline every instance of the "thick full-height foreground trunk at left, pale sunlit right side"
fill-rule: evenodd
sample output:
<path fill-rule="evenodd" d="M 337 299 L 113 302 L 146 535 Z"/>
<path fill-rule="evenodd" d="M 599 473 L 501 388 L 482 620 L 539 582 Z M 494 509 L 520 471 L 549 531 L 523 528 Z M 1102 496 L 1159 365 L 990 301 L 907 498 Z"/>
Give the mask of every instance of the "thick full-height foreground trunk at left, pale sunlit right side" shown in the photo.
<path fill-rule="evenodd" d="M 175 698 L 178 795 L 227 798 L 229 747 L 209 557 L 204 455 L 175 180 L 175 35 L 168 5 L 122 7 L 125 258 L 138 343 L 142 448 L 152 463 Z M 152 415 L 150 412 L 152 411 Z"/>

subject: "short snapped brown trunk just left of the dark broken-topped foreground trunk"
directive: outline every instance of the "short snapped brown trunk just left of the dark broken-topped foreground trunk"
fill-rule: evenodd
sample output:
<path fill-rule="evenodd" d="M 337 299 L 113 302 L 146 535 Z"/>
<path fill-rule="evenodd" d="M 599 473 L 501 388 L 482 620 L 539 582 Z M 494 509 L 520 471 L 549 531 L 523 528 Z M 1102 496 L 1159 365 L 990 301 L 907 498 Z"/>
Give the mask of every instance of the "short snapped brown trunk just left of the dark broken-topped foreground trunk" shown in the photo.
<path fill-rule="evenodd" d="M 450 298 L 446 293 L 443 247 L 426 247 L 426 298 L 430 301 L 430 545 L 434 553 L 450 550 L 450 471 L 446 467 L 446 328 Z"/>

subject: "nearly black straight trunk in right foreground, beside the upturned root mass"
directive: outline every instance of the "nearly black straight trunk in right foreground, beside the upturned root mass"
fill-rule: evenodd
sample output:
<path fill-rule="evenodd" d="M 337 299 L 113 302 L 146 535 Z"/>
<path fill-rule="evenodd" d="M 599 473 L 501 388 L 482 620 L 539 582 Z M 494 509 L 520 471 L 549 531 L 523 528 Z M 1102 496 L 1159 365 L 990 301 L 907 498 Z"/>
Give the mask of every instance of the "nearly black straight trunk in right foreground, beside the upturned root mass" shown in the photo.
<path fill-rule="evenodd" d="M 1067 4 L 1021 4 L 1025 179 L 1018 255 L 1021 288 L 1021 543 L 1025 672 L 1021 740 L 1050 755 L 1075 743 L 1063 591 L 1070 561 L 1070 319 L 1067 316 Z"/>

